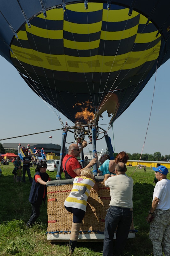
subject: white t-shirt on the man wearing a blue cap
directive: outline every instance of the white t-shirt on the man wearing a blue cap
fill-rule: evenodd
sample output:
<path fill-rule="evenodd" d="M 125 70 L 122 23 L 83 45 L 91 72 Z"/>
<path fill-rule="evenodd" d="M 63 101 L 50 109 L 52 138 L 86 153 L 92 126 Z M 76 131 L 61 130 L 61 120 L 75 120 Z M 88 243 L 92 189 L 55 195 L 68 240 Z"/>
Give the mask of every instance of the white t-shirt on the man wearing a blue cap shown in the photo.
<path fill-rule="evenodd" d="M 153 192 L 153 199 L 155 196 L 159 198 L 156 209 L 170 209 L 170 180 L 163 179 L 157 182 Z"/>

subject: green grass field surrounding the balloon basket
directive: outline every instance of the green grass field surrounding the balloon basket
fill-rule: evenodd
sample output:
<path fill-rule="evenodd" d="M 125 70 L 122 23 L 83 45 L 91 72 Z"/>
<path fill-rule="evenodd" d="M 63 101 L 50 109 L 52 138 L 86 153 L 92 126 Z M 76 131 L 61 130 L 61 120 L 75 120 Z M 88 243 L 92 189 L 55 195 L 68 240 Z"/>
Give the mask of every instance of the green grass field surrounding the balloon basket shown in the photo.
<path fill-rule="evenodd" d="M 40 217 L 36 225 L 26 228 L 25 224 L 31 213 L 28 202 L 31 184 L 26 175 L 26 184 L 13 182 L 13 164 L 1 165 L 0 176 L 0 255 L 1 256 L 66 256 L 68 245 L 52 244 L 47 241 L 47 202 L 40 208 Z M 35 168 L 31 169 L 34 176 Z M 135 167 L 127 167 L 131 176 Z M 48 172 L 48 171 L 47 171 Z M 51 180 L 55 180 L 56 172 L 48 172 Z M 135 238 L 128 239 L 122 255 L 151 256 L 152 244 L 148 238 L 149 224 L 145 217 L 150 210 L 154 190 L 154 172 L 150 168 L 137 169 L 132 175 L 134 180 L 133 204 L 134 225 L 138 232 Z M 168 177 L 170 178 L 170 177 Z M 115 243 L 115 242 L 113 242 Z M 78 243 L 74 255 L 102 255 L 103 243 Z"/>

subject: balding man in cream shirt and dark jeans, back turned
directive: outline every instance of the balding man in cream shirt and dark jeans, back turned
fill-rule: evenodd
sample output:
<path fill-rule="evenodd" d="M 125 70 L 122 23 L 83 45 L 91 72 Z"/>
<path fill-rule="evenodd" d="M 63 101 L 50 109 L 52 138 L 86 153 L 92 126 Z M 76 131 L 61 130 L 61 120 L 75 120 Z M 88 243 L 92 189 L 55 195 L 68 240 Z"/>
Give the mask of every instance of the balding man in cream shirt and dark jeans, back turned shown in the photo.
<path fill-rule="evenodd" d="M 115 167 L 115 175 L 105 174 L 104 185 L 110 188 L 110 207 L 105 217 L 103 256 L 120 256 L 126 244 L 133 213 L 133 180 L 125 175 L 124 163 Z M 116 230 L 116 244 L 113 250 L 113 237 Z"/>

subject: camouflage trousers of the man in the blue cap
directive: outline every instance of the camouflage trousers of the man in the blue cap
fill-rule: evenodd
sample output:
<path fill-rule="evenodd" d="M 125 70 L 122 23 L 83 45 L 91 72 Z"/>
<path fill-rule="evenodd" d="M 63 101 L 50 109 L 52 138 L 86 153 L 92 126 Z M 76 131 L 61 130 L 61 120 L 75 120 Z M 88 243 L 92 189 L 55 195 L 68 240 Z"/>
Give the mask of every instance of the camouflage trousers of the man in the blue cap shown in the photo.
<path fill-rule="evenodd" d="M 150 224 L 149 238 L 153 244 L 154 256 L 170 256 L 170 209 L 155 210 Z"/>

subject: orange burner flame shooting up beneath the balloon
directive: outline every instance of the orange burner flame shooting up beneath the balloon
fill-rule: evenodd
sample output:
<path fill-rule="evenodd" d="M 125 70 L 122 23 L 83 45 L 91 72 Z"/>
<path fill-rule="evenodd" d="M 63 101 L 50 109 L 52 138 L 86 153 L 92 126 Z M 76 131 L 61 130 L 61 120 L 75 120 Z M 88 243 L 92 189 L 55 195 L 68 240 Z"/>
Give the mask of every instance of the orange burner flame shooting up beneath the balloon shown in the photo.
<path fill-rule="evenodd" d="M 78 106 L 81 108 L 81 111 L 77 112 L 77 114 L 75 115 L 75 119 L 77 119 L 78 121 L 86 121 L 88 122 L 89 120 L 93 120 L 94 119 L 94 113 L 92 112 L 92 110 L 94 109 L 94 107 L 91 105 L 92 102 L 85 101 L 82 103 L 75 103 L 75 105 L 73 106 L 73 108 L 75 106 Z"/>

